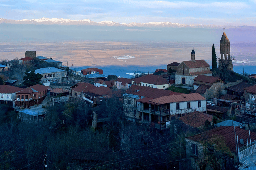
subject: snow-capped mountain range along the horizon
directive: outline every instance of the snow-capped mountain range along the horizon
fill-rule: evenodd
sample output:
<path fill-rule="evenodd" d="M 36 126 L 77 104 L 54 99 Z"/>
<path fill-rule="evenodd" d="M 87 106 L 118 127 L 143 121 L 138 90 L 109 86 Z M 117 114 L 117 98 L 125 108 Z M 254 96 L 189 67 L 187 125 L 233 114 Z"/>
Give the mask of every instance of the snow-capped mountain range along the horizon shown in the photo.
<path fill-rule="evenodd" d="M 172 27 L 172 28 L 212 28 L 218 29 L 225 27 L 228 28 L 237 28 L 237 26 L 219 26 L 219 25 L 184 25 L 179 23 L 171 23 L 171 22 L 148 22 L 148 23 L 118 23 L 113 21 L 100 21 L 94 22 L 88 19 L 83 20 L 70 20 L 63 18 L 41 18 L 41 19 L 32 19 L 32 20 L 8 20 L 0 18 L 1 23 L 8 24 L 44 24 L 44 25 L 95 25 L 95 26 L 127 26 L 127 27 Z"/>

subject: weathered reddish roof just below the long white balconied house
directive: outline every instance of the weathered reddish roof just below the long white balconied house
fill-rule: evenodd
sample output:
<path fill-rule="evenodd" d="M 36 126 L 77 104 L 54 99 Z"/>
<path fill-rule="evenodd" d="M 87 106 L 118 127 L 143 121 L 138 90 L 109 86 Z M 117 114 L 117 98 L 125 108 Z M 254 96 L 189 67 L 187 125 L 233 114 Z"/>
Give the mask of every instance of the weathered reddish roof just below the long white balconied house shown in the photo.
<path fill-rule="evenodd" d="M 189 125 L 193 128 L 198 128 L 204 125 L 207 119 L 209 122 L 211 122 L 213 119 L 213 116 L 203 112 L 198 112 L 198 111 L 194 111 L 192 113 L 186 114 L 185 116 L 179 118 L 180 121 L 184 122 L 186 125 Z"/>

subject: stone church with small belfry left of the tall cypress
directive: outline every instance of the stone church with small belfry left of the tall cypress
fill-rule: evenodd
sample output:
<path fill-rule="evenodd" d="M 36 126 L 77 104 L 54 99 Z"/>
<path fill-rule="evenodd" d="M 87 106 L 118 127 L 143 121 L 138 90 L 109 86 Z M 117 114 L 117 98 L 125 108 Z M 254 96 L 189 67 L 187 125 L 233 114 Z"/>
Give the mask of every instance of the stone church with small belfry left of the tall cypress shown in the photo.
<path fill-rule="evenodd" d="M 175 84 L 191 85 L 194 83 L 194 78 L 198 75 L 212 76 L 210 65 L 205 60 L 196 60 L 196 53 L 191 51 L 191 60 L 182 61 L 177 67 L 175 73 Z"/>

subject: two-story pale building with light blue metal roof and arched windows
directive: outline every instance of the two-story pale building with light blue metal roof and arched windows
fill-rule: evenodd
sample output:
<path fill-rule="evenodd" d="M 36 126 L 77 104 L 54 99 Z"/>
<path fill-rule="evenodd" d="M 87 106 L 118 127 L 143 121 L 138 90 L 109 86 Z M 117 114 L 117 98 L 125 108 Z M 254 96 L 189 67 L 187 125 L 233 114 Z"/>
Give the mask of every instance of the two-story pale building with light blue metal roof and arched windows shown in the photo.
<path fill-rule="evenodd" d="M 61 70 L 55 67 L 39 68 L 35 70 L 35 73 L 43 75 L 41 83 L 48 83 L 47 85 L 49 85 L 50 82 L 65 80 L 67 78 L 66 70 Z"/>

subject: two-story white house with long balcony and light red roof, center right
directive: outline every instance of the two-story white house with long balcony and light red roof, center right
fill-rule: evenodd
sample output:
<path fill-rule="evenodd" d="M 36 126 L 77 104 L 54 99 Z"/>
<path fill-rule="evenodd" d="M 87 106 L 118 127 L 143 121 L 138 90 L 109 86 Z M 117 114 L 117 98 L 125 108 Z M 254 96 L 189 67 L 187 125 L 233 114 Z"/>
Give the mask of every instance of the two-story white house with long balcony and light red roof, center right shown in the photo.
<path fill-rule="evenodd" d="M 163 96 L 151 100 L 143 98 L 137 101 L 137 107 L 142 122 L 149 122 L 161 130 L 168 128 L 175 117 L 182 117 L 193 111 L 206 113 L 206 98 L 198 93 Z"/>

